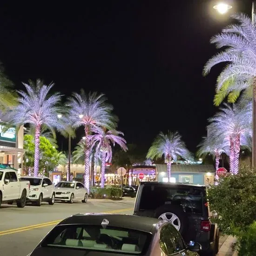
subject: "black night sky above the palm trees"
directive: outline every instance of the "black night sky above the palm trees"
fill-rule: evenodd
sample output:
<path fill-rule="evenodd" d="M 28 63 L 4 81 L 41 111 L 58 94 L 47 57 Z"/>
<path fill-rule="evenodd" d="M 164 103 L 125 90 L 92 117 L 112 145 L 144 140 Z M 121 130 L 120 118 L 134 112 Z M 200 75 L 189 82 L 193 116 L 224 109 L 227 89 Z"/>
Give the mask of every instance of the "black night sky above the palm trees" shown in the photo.
<path fill-rule="evenodd" d="M 18 89 L 41 78 L 66 95 L 80 88 L 105 93 L 128 143 L 147 148 L 159 131 L 178 130 L 195 151 L 216 111 L 221 69 L 202 77 L 216 53 L 209 40 L 232 22 L 214 2 L 8 1 L 0 4 L 0 60 Z M 250 3 L 234 0 L 232 12 L 250 14 Z"/>

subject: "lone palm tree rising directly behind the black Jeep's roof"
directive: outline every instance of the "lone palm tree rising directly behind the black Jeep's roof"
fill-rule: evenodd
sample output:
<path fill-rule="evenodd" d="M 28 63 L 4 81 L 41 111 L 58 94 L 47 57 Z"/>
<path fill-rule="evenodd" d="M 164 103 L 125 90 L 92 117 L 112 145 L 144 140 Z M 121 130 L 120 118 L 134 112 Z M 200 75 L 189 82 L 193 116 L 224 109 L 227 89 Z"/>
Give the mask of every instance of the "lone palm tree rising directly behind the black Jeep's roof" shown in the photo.
<path fill-rule="evenodd" d="M 155 159 L 164 156 L 167 163 L 168 180 L 171 178 L 171 164 L 180 156 L 182 158 L 190 158 L 189 150 L 186 148 L 182 137 L 178 132 L 170 132 L 163 134 L 162 132 L 156 136 L 152 146 L 148 150 L 147 158 Z"/>

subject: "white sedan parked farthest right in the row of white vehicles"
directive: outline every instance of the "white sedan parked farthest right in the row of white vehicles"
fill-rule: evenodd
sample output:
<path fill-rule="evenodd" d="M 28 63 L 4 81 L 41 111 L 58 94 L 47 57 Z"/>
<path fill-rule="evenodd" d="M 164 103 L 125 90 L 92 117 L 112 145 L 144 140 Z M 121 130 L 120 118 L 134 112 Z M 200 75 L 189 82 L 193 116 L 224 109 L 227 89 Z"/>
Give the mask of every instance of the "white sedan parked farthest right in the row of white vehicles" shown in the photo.
<path fill-rule="evenodd" d="M 87 202 L 88 190 L 81 182 L 59 182 L 55 186 L 55 199 L 73 203 L 74 201 Z"/>

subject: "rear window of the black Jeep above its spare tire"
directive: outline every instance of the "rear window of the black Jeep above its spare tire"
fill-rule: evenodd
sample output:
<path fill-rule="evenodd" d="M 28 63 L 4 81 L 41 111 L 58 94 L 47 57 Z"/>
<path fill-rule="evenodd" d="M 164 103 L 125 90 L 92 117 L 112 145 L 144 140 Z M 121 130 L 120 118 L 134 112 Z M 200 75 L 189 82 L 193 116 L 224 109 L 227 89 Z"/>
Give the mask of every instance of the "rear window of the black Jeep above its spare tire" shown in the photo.
<path fill-rule="evenodd" d="M 189 214 L 202 214 L 204 194 L 202 189 L 170 188 L 168 186 L 143 186 L 140 210 L 155 210 L 162 205 L 179 205 Z M 150 202 L 150 203 L 149 203 Z"/>

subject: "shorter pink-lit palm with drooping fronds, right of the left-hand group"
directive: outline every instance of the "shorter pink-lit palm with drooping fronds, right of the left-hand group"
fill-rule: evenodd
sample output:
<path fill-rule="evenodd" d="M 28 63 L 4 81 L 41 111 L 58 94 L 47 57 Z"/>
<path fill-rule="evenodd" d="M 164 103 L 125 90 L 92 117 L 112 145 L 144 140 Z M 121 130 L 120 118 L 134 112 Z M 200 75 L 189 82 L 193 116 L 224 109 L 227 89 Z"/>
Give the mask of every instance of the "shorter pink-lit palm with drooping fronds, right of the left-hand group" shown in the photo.
<path fill-rule="evenodd" d="M 101 155 L 101 188 L 104 188 L 105 184 L 105 170 L 106 162 L 111 162 L 112 159 L 112 145 L 118 144 L 122 150 L 127 151 L 126 140 L 120 135 L 124 135 L 120 131 L 109 130 L 105 128 L 97 128 L 95 134 L 92 136 L 92 145 L 96 146 L 96 150 Z"/>

